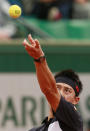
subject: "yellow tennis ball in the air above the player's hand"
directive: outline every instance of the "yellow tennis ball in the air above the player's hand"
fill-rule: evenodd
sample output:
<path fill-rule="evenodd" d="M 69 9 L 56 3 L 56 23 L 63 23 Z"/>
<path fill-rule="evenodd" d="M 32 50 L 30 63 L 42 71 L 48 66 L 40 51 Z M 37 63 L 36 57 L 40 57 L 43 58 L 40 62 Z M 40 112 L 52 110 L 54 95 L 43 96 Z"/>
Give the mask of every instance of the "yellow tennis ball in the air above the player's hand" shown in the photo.
<path fill-rule="evenodd" d="M 21 15 L 21 8 L 18 5 L 11 5 L 9 8 L 9 15 L 12 18 L 18 18 Z"/>

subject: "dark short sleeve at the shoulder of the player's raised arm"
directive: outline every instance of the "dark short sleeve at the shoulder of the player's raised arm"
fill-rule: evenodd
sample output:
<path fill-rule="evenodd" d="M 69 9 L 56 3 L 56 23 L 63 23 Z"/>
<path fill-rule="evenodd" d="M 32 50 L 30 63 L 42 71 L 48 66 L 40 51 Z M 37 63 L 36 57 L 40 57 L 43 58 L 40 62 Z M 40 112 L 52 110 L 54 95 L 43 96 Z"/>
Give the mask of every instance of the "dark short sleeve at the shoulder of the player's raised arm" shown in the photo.
<path fill-rule="evenodd" d="M 82 119 L 74 105 L 67 102 L 63 97 L 61 97 L 54 115 L 59 122 L 62 121 L 69 127 L 82 127 Z"/>

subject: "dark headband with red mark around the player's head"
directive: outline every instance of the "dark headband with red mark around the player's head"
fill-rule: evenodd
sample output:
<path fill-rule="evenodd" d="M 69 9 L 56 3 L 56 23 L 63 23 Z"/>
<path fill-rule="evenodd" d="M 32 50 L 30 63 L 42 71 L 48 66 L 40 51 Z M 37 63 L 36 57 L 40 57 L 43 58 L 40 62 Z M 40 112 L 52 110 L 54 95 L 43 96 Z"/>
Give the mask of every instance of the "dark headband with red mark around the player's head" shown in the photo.
<path fill-rule="evenodd" d="M 79 87 L 73 80 L 71 80 L 68 77 L 57 77 L 55 79 L 56 79 L 56 83 L 65 83 L 70 85 L 74 89 L 76 96 L 79 95 Z"/>

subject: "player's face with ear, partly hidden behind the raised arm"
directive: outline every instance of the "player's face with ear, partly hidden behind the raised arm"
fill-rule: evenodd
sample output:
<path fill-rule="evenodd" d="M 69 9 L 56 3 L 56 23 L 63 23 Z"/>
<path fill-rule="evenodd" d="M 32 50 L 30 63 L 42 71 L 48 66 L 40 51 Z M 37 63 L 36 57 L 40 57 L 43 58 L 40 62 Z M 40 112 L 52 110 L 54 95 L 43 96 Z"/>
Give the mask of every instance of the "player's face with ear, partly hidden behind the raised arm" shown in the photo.
<path fill-rule="evenodd" d="M 75 91 L 70 85 L 65 83 L 56 83 L 56 86 L 66 101 L 72 104 L 78 103 L 79 97 L 75 96 Z"/>

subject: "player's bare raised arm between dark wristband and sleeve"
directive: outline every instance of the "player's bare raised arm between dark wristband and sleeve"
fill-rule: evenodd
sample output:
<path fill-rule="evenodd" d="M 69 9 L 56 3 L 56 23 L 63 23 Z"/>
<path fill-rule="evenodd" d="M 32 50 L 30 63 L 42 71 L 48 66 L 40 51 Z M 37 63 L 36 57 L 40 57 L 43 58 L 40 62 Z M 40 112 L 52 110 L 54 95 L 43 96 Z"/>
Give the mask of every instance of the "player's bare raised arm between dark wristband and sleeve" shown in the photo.
<path fill-rule="evenodd" d="M 35 62 L 35 67 L 40 88 L 53 110 L 56 111 L 60 101 L 60 94 L 56 88 L 54 76 L 51 73 L 46 60 L 42 63 Z"/>

